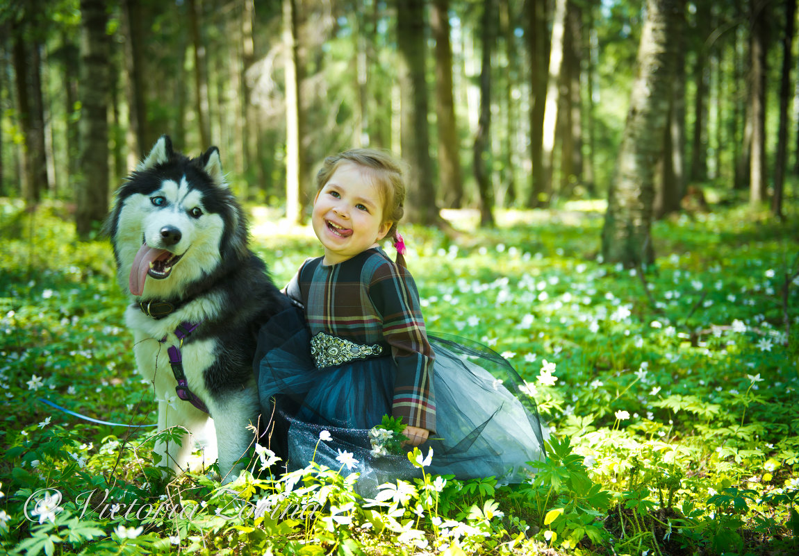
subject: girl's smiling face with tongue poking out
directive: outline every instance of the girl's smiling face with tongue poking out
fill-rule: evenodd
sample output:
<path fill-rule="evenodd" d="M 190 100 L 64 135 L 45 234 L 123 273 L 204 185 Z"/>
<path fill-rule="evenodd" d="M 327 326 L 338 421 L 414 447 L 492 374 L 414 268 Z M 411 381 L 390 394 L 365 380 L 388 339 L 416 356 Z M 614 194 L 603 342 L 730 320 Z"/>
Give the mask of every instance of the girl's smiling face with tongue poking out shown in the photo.
<path fill-rule="evenodd" d="M 356 256 L 385 237 L 383 196 L 368 169 L 342 162 L 313 200 L 311 223 L 324 246 L 325 265 Z"/>

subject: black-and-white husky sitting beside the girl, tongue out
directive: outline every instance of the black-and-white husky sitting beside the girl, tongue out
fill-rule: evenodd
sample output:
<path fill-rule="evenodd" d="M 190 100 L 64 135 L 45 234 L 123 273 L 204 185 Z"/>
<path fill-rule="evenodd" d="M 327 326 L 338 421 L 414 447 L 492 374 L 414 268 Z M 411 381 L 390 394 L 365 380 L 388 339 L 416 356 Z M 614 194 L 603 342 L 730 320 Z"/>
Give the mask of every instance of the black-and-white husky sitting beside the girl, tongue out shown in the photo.
<path fill-rule="evenodd" d="M 194 442 L 205 440 L 223 481 L 235 479 L 253 438 L 247 426 L 258 419 L 256 333 L 287 302 L 248 248 L 219 150 L 189 159 L 161 136 L 118 189 L 106 231 L 131 296 L 125 321 L 139 372 L 155 388 L 158 428 L 189 431 L 182 446 L 156 445 L 161 464 L 185 469 Z"/>

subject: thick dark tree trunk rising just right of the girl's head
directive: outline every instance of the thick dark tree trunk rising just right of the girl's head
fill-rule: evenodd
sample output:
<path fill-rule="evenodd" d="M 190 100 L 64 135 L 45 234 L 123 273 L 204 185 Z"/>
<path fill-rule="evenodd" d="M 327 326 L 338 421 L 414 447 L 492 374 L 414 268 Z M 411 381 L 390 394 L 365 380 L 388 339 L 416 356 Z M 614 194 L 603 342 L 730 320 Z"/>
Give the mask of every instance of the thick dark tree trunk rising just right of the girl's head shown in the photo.
<path fill-rule="evenodd" d="M 422 225 L 439 222 L 427 124 L 424 63 L 427 42 L 423 0 L 396 0 L 397 49 L 400 53 L 400 150 L 408 164 L 405 215 Z"/>

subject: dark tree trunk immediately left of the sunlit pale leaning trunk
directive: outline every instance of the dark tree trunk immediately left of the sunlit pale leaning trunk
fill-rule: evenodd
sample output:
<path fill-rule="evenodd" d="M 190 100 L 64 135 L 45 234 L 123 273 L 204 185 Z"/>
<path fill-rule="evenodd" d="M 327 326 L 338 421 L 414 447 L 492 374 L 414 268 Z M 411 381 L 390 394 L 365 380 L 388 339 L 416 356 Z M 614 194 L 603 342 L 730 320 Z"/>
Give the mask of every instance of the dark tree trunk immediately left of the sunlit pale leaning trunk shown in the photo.
<path fill-rule="evenodd" d="M 547 0 L 527 0 L 525 6 L 527 50 L 530 52 L 530 155 L 533 166 L 530 196 L 527 206 L 543 206 L 549 200 L 543 165 L 544 107 L 547 104 L 549 76 L 549 32 L 547 30 Z"/>

